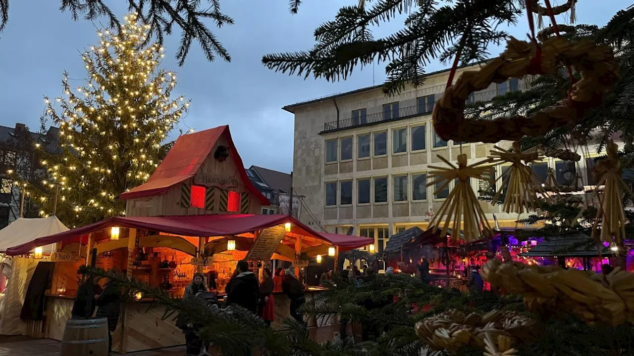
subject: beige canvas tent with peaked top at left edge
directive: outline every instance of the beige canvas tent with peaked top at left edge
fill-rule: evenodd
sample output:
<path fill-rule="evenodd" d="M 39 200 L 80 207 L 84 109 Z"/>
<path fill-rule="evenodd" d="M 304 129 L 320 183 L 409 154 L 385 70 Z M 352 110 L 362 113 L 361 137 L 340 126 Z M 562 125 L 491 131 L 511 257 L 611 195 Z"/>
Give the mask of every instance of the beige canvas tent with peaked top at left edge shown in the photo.
<path fill-rule="evenodd" d="M 0 253 L 8 248 L 37 238 L 68 231 L 57 217 L 43 219 L 19 218 L 0 230 Z M 42 253 L 55 251 L 55 245 L 42 246 Z M 33 251 L 32 251 L 33 252 Z M 22 335 L 29 325 L 20 320 L 20 310 L 37 263 L 33 257 L 4 257 L 0 270 L 6 276 L 6 290 L 0 293 L 0 334 Z"/>

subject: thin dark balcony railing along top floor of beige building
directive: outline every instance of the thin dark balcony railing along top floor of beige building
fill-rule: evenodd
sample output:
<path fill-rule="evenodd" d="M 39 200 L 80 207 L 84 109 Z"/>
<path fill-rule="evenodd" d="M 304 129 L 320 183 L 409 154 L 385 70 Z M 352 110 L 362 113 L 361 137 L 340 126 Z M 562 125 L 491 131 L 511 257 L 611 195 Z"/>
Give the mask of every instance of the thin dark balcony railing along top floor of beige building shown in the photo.
<path fill-rule="evenodd" d="M 469 98 L 467 99 L 467 104 L 480 103 L 482 101 L 491 101 L 497 95 L 498 92 L 495 89 L 490 91 L 477 92 L 469 96 Z M 383 121 L 398 120 L 401 118 L 409 118 L 417 115 L 430 115 L 431 113 L 432 111 L 425 110 L 424 106 L 407 106 L 405 108 L 399 108 L 398 111 L 391 110 L 360 117 L 351 117 L 345 118 L 344 120 L 327 122 L 324 124 L 323 132 L 349 129 L 351 127 L 375 124 L 377 122 Z"/>

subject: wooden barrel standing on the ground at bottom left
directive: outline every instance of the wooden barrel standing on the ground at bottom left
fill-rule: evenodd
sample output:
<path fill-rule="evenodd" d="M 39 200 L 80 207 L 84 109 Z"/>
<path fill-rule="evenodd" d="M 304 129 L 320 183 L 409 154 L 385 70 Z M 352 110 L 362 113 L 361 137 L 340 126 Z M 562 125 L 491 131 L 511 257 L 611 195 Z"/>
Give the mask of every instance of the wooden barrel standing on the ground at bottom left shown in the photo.
<path fill-rule="evenodd" d="M 60 356 L 108 356 L 108 320 L 68 319 Z"/>

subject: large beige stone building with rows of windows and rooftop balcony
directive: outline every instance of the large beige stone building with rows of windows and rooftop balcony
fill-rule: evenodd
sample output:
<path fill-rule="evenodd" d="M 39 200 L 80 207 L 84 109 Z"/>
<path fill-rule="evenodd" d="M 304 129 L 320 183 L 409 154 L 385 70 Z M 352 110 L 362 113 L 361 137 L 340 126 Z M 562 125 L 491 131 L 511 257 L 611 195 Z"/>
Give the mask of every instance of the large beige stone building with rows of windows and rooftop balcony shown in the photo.
<path fill-rule="evenodd" d="M 472 69 L 475 66 L 459 68 L 456 78 Z M 455 162 L 461 151 L 459 143 L 437 137 L 431 122 L 434 103 L 443 95 L 448 75 L 448 70 L 430 73 L 424 86 L 396 96 L 385 96 L 380 86 L 373 86 L 283 108 L 295 115 L 293 186 L 311 212 L 304 214 L 306 224 L 340 233 L 353 227 L 354 234 L 374 238 L 378 251 L 396 232 L 429 226 L 453 182 L 434 193 L 436 187 L 426 186 L 427 172 L 432 165 L 444 166 L 437 156 Z M 469 101 L 490 101 L 525 86 L 518 79 L 491 84 L 474 92 Z M 510 142 L 498 146 L 508 148 Z M 469 163 L 486 158 L 491 149 L 493 144 L 462 144 Z M 546 180 L 549 167 L 560 185 L 572 184 L 578 170 L 584 184 L 588 182 L 584 160 L 545 158 L 533 170 Z M 505 171 L 506 167 L 497 167 L 496 179 Z M 501 181 L 497 180 L 495 188 L 501 187 Z M 479 194 L 495 190 L 487 181 L 471 184 Z M 516 213 L 503 213 L 501 207 L 484 201 L 481 205 L 491 224 L 495 213 L 501 227 L 516 225 Z"/>

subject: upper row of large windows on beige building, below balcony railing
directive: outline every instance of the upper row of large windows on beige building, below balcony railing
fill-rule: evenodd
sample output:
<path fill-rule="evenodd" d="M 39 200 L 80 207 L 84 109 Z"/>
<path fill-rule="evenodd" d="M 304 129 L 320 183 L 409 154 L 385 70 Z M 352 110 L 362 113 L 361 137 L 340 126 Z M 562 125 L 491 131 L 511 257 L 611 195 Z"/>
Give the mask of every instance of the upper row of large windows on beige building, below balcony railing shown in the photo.
<path fill-rule="evenodd" d="M 380 130 L 356 135 L 357 158 L 387 155 L 387 132 L 387 130 Z M 392 153 L 407 152 L 408 145 L 410 151 L 422 151 L 427 148 L 426 124 L 399 127 L 391 129 L 391 132 Z M 326 140 L 326 162 L 337 162 L 337 159 L 342 161 L 353 159 L 353 138 L 353 136 L 347 136 Z M 432 143 L 434 148 L 448 146 L 447 141 L 438 137 L 433 128 Z"/>

